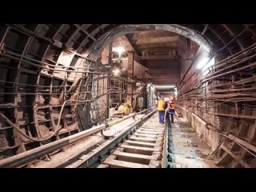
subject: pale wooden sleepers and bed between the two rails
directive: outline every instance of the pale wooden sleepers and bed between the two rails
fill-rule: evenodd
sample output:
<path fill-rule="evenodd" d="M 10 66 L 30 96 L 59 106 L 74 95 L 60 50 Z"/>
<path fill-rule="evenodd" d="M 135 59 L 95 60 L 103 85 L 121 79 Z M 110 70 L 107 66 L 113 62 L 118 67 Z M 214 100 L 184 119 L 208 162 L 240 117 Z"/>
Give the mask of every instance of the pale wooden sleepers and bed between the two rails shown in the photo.
<path fill-rule="evenodd" d="M 98 168 L 160 168 L 165 127 L 154 114 L 139 126 Z"/>

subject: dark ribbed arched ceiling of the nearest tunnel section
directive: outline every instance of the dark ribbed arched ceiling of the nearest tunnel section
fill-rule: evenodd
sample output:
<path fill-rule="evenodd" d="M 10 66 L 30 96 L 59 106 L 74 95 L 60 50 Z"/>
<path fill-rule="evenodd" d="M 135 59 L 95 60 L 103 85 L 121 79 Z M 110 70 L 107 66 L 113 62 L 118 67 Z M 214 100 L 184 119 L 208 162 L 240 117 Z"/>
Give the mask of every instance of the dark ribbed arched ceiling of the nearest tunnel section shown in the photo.
<path fill-rule="evenodd" d="M 52 50 L 53 39 L 62 42 L 63 45 L 75 50 L 76 53 L 83 54 L 86 50 L 95 52 L 95 50 L 102 49 L 102 43 L 98 43 L 102 38 L 106 43 L 116 34 L 122 35 L 134 30 L 152 28 L 174 30 L 174 32 L 183 34 L 188 38 L 194 38 L 198 43 L 210 45 L 214 54 L 222 53 L 223 57 L 250 46 L 255 42 L 256 37 L 254 24 L 158 24 L 142 26 L 119 24 L 18 24 L 2 25 L 0 39 L 1 47 L 6 46 L 6 49 L 10 48 L 18 54 L 30 55 L 32 58 L 43 61 L 52 57 L 52 52 L 56 53 L 56 57 L 58 57 L 62 50 Z M 211 45 L 212 43 L 213 45 Z"/>

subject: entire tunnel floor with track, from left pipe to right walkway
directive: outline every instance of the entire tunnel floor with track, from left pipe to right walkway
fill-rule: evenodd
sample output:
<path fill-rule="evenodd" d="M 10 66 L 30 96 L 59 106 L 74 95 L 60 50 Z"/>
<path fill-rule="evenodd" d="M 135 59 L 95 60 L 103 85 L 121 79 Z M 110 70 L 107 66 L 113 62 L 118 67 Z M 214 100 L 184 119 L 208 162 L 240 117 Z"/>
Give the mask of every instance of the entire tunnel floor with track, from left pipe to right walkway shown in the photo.
<path fill-rule="evenodd" d="M 6 158 L 0 167 L 216 167 L 195 130 L 177 120 L 171 129 L 159 124 L 156 110 L 142 111 Z"/>

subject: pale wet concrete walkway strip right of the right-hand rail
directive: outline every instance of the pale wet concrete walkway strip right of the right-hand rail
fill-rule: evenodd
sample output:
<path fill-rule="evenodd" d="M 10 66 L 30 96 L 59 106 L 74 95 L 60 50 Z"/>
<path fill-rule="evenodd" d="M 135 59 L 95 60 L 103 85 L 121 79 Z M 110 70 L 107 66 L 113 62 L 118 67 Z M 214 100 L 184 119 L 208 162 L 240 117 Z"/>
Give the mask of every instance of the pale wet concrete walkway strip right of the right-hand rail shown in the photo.
<path fill-rule="evenodd" d="M 169 130 L 171 168 L 217 168 L 210 146 L 185 119 L 175 116 Z"/>

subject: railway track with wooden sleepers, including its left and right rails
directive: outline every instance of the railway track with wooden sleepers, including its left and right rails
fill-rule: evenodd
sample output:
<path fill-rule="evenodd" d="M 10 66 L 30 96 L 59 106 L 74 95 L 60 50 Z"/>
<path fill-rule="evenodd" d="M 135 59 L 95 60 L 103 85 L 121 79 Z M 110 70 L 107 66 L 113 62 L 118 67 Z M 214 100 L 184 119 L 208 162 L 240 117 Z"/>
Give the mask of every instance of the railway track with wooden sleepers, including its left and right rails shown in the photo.
<path fill-rule="evenodd" d="M 151 117 L 152 116 L 152 117 Z M 151 112 L 114 138 L 96 147 L 66 168 L 160 168 L 163 165 L 165 127 Z"/>

